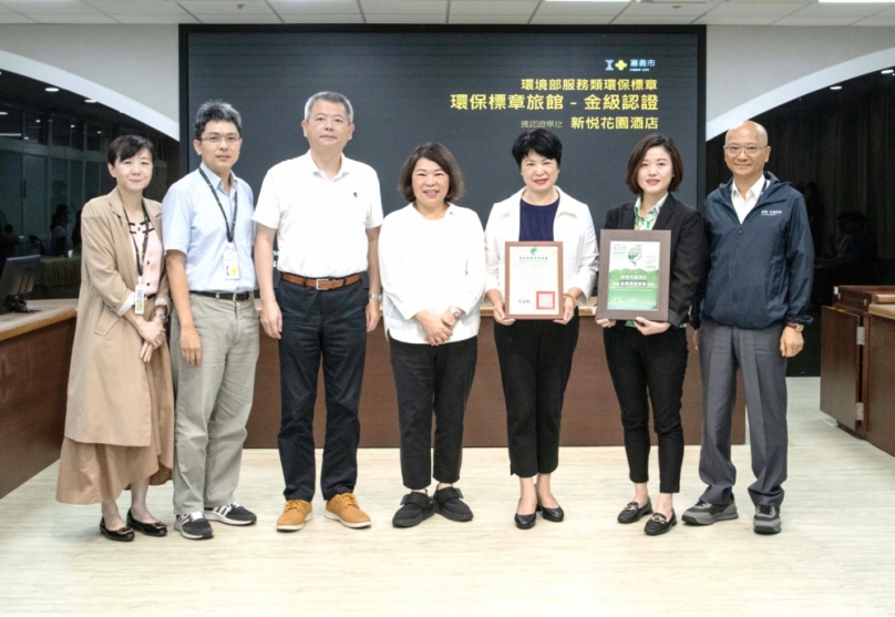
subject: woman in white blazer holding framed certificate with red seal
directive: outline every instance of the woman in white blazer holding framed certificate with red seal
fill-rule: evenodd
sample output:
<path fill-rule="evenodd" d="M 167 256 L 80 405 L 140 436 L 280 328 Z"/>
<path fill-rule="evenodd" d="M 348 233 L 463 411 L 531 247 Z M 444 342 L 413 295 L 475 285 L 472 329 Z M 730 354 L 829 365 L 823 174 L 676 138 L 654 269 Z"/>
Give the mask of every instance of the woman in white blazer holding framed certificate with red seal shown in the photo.
<path fill-rule="evenodd" d="M 588 207 L 556 186 L 563 144 L 543 128 L 513 144 L 525 187 L 494 204 L 485 227 L 487 298 L 501 363 L 510 473 L 519 479 L 515 523 L 537 511 L 559 523 L 551 491 L 559 463 L 559 419 L 578 342 L 578 304 L 594 288 L 597 241 Z M 537 483 L 535 483 L 537 476 Z"/>

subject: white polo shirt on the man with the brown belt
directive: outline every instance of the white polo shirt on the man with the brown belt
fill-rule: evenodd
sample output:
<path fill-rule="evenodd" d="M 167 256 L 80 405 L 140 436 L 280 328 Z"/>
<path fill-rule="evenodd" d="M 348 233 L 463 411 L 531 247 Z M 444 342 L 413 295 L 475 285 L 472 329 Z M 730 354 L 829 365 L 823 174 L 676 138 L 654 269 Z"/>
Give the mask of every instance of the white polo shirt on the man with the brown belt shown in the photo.
<path fill-rule="evenodd" d="M 256 223 L 277 230 L 281 272 L 338 278 L 367 270 L 367 229 L 382 225 L 379 178 L 342 155 L 329 179 L 308 152 L 275 165 L 264 178 Z"/>

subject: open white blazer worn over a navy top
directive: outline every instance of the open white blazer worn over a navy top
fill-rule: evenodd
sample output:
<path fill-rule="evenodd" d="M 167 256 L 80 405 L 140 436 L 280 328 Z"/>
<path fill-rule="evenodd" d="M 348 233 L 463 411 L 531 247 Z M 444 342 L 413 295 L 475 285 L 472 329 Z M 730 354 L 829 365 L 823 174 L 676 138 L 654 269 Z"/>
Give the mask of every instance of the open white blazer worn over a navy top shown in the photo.
<path fill-rule="evenodd" d="M 506 297 L 505 245 L 519 239 L 519 199 L 522 192 L 494 204 L 485 227 L 485 289 L 498 289 Z M 565 291 L 584 291 L 578 304 L 587 304 L 597 277 L 597 235 L 590 209 L 579 200 L 559 193 L 559 207 L 553 222 L 553 239 L 563 243 L 563 285 Z"/>

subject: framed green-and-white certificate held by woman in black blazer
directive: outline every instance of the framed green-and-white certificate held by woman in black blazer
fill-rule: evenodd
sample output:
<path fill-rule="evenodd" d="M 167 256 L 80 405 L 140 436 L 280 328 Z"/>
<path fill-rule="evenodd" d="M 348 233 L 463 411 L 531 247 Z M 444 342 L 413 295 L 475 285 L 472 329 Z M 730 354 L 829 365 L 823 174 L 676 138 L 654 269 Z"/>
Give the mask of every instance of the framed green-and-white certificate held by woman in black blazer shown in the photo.
<path fill-rule="evenodd" d="M 671 232 L 599 233 L 597 319 L 668 321 Z"/>

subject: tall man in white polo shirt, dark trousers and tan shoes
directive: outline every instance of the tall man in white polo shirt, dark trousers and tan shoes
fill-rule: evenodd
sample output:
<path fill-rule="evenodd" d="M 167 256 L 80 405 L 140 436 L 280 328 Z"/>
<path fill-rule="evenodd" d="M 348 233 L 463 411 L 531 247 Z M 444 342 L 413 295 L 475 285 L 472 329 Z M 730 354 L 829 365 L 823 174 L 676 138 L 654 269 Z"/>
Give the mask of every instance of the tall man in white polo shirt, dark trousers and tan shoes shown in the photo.
<path fill-rule="evenodd" d="M 279 452 L 286 506 L 277 529 L 295 532 L 313 514 L 313 404 L 323 360 L 327 435 L 320 489 L 325 516 L 367 527 L 354 483 L 367 332 L 379 321 L 379 178 L 369 165 L 342 155 L 354 131 L 351 103 L 318 92 L 301 123 L 310 151 L 274 166 L 255 209 L 255 267 L 261 326 L 279 339 L 282 420 Z M 274 291 L 274 238 L 282 274 Z M 369 275 L 369 294 L 360 274 Z"/>

